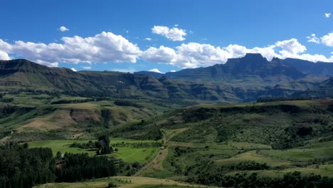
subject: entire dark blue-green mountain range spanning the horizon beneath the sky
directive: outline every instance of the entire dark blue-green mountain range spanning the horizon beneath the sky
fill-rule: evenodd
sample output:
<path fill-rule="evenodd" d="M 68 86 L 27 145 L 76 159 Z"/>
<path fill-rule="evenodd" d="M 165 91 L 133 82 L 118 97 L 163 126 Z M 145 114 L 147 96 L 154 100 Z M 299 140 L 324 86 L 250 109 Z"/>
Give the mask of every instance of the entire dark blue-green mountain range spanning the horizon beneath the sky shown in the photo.
<path fill-rule="evenodd" d="M 231 58 L 225 64 L 165 74 L 149 71 L 75 72 L 23 59 L 0 61 L 2 92 L 47 90 L 174 103 L 249 102 L 257 98 L 309 97 L 309 93 L 315 97 L 317 90 L 321 90 L 320 97 L 325 97 L 333 88 L 331 76 L 333 63 L 313 63 L 294 58 L 268 61 L 258 53 Z"/>

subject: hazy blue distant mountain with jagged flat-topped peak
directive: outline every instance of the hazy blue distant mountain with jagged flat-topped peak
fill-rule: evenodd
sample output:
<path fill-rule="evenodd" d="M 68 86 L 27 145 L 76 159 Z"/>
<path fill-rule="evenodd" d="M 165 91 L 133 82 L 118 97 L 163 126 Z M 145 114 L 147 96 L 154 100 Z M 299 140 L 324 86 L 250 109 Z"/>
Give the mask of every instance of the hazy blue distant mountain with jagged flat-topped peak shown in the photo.
<path fill-rule="evenodd" d="M 152 75 L 152 73 L 139 72 Z M 160 78 L 162 75 L 157 75 Z M 305 78 L 306 74 L 292 66 L 287 66 L 282 60 L 274 58 L 267 61 L 259 53 L 248 53 L 243 58 L 231 58 L 225 64 L 216 64 L 206 68 L 184 69 L 174 73 L 166 73 L 171 79 L 181 80 L 214 80 L 214 81 L 250 81 L 253 79 L 268 82 L 282 80 L 297 80 Z"/>

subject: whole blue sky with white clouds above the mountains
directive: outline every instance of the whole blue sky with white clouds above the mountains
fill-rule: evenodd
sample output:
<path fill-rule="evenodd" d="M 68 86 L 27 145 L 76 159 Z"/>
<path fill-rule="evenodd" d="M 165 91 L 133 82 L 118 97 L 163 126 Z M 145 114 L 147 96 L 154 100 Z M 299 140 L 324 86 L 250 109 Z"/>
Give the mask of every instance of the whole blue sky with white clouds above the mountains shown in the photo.
<path fill-rule="evenodd" d="M 0 0 L 0 59 L 73 71 L 213 66 L 245 53 L 333 62 L 332 0 Z"/>

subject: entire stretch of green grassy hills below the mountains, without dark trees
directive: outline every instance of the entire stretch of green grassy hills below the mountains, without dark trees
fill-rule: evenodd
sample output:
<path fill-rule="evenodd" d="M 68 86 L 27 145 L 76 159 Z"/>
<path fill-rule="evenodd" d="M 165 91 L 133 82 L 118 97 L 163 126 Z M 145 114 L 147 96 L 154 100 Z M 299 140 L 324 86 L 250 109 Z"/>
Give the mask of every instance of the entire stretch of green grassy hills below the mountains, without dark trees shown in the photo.
<path fill-rule="evenodd" d="M 179 108 L 149 100 L 52 93 L 6 93 L 3 98 L 11 101 L 0 103 L 2 142 L 51 147 L 53 155 L 60 151 L 93 156 L 94 149 L 70 145 L 109 133 L 110 146 L 118 150 L 106 156 L 124 162 L 120 174 L 133 179 L 216 186 L 234 182 L 236 186 L 243 181 L 240 179 L 250 178 L 333 177 L 333 101 L 329 99 Z M 294 172 L 301 172 L 300 177 Z M 164 180 L 158 181 L 148 184 L 156 187 Z M 109 182 L 112 180 L 41 186 L 104 187 Z M 134 186 L 129 180 L 118 184 Z M 135 186 L 147 187 L 147 182 Z"/>

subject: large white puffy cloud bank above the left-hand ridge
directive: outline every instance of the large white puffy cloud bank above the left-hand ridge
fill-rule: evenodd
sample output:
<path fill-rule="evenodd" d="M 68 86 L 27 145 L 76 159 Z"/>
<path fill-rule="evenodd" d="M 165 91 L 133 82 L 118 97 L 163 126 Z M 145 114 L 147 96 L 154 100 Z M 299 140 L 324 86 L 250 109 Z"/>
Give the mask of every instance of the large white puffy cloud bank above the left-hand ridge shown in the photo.
<path fill-rule="evenodd" d="M 63 43 L 32 43 L 15 41 L 6 43 L 0 39 L 0 51 L 14 53 L 46 66 L 58 63 L 135 63 L 141 55 L 139 47 L 126 38 L 111 32 L 92 37 L 63 37 Z"/>

